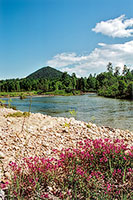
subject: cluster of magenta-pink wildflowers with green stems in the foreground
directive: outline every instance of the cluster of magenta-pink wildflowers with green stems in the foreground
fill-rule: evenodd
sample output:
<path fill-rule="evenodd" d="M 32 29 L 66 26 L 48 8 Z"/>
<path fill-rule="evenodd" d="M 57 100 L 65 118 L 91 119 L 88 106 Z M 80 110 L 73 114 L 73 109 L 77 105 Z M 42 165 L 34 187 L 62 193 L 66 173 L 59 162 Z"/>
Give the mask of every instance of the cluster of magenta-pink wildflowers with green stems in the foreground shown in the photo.
<path fill-rule="evenodd" d="M 10 163 L 11 198 L 131 199 L 133 153 L 124 141 L 86 139 L 76 149 L 53 152 L 58 160 L 30 157 L 21 166 Z"/>

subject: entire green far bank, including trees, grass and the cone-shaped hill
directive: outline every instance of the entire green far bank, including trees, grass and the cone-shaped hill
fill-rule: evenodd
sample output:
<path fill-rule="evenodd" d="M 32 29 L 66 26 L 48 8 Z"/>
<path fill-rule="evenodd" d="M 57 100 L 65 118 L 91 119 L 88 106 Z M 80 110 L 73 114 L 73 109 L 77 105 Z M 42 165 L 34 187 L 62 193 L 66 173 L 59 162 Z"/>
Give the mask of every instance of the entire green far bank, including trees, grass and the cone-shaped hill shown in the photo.
<path fill-rule="evenodd" d="M 0 96 L 14 97 L 37 94 L 77 95 L 82 92 L 97 92 L 98 95 L 112 98 L 133 98 L 133 72 L 124 65 L 120 75 L 120 68 L 113 70 L 112 63 L 107 65 L 107 72 L 97 76 L 90 74 L 88 78 L 77 78 L 67 72 L 60 72 L 51 67 L 44 67 L 23 79 L 9 79 L 0 81 Z M 28 91 L 28 92 L 27 92 Z"/>

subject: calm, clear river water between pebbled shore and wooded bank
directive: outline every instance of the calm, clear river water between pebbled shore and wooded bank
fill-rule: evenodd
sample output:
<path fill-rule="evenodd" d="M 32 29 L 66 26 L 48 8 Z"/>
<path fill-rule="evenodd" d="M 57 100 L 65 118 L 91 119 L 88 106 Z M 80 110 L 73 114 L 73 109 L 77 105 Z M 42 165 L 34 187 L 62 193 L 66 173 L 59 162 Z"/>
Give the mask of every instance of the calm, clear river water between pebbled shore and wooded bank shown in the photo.
<path fill-rule="evenodd" d="M 99 97 L 96 94 L 80 96 L 13 98 L 11 104 L 21 111 L 43 113 L 51 116 L 72 117 L 112 128 L 133 130 L 133 102 Z M 74 110 L 72 114 L 70 111 Z"/>

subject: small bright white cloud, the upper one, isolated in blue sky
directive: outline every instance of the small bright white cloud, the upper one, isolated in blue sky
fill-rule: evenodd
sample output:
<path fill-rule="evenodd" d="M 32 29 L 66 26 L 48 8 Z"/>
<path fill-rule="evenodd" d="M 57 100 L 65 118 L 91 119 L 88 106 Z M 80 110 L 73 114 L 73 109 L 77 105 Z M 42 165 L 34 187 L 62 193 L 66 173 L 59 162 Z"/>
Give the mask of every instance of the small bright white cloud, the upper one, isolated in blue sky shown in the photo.
<path fill-rule="evenodd" d="M 125 15 L 121 15 L 118 18 L 97 23 L 92 30 L 113 38 L 131 37 L 133 36 L 133 18 L 125 19 Z"/>

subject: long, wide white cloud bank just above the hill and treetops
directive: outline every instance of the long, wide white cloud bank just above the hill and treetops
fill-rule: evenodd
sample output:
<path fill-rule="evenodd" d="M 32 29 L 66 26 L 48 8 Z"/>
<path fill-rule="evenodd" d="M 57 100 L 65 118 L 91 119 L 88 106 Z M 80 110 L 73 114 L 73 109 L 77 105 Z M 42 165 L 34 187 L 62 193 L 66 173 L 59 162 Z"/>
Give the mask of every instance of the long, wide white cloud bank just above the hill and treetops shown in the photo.
<path fill-rule="evenodd" d="M 88 76 L 89 73 L 99 73 L 106 70 L 108 62 L 114 66 L 124 64 L 133 66 L 133 40 L 123 44 L 99 43 L 90 54 L 61 53 L 47 61 L 47 65 L 68 73 L 75 72 L 78 76 Z"/>

